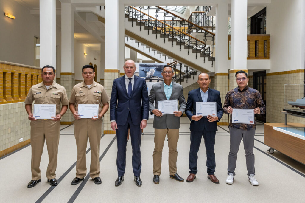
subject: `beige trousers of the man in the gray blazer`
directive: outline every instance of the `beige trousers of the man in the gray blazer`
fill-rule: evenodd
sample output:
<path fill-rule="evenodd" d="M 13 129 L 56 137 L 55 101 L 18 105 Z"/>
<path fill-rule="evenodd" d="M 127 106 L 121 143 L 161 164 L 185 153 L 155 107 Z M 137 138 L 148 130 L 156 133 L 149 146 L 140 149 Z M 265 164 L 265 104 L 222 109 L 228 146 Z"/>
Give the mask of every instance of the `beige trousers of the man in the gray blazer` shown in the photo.
<path fill-rule="evenodd" d="M 156 129 L 155 128 L 155 150 L 152 154 L 153 174 L 161 174 L 162 150 L 165 136 L 168 138 L 168 167 L 170 175 L 177 173 L 177 143 L 179 139 L 179 129 Z"/>

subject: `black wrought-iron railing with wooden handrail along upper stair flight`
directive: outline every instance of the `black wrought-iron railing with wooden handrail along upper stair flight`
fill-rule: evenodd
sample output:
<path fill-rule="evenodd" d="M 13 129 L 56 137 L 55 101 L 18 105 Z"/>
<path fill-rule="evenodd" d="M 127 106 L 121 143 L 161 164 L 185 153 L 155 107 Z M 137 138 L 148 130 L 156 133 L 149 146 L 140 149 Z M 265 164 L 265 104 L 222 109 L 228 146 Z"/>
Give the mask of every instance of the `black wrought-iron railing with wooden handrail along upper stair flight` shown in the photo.
<path fill-rule="evenodd" d="M 159 31 L 159 34 L 165 34 L 170 38 L 174 38 L 177 42 L 180 42 L 180 51 L 184 45 L 187 46 L 188 55 L 190 50 L 191 52 L 192 50 L 197 50 L 196 59 L 198 54 L 203 54 L 204 62 L 206 57 L 214 57 L 215 34 L 159 6 L 148 6 L 147 11 L 145 11 L 147 13 L 144 13 L 142 9 L 142 6 L 139 9 L 133 6 L 125 7 L 125 13 L 132 18 L 132 27 L 134 23 L 141 22 L 139 26 L 140 31 L 142 31 L 143 26 L 148 26 Z M 147 29 L 147 34 L 154 33 Z M 156 32 L 156 39 L 157 37 L 158 32 Z M 173 47 L 174 40 L 171 41 Z"/>

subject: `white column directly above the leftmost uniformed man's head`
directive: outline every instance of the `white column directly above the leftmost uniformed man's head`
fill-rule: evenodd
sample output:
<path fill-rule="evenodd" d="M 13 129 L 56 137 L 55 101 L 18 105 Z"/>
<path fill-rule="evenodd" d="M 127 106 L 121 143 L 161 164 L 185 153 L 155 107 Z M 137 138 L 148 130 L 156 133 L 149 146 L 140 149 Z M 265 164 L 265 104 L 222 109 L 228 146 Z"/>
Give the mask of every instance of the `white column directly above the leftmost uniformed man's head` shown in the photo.
<path fill-rule="evenodd" d="M 56 69 L 56 0 L 39 0 L 40 67 Z"/>

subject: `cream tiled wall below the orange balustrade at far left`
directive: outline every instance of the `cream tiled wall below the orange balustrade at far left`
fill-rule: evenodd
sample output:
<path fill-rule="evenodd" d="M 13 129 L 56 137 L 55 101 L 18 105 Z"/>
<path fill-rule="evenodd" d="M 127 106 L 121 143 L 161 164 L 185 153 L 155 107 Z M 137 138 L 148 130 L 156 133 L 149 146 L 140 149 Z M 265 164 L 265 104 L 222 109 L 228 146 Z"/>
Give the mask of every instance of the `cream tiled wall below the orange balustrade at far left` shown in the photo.
<path fill-rule="evenodd" d="M 23 102 L 0 104 L 0 151 L 30 139 L 30 121 Z"/>

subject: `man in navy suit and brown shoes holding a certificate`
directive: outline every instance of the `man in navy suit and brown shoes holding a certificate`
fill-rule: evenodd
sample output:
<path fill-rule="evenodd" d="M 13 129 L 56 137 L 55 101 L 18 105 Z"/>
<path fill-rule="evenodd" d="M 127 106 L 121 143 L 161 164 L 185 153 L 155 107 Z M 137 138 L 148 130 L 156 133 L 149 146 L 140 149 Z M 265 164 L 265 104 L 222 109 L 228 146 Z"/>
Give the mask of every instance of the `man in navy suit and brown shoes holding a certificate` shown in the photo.
<path fill-rule="evenodd" d="M 223 112 L 221 105 L 220 92 L 215 89 L 210 89 L 211 79 L 206 73 L 201 73 L 198 76 L 198 89 L 193 89 L 188 92 L 188 101 L 186 103 L 185 114 L 191 120 L 191 146 L 188 156 L 188 166 L 190 175 L 186 179 L 187 182 L 193 182 L 197 174 L 197 152 L 203 135 L 204 145 L 206 146 L 206 166 L 208 179 L 213 183 L 219 183 L 215 176 L 215 135 L 217 131 L 217 122 L 221 119 Z M 196 102 L 216 102 L 216 116 L 198 116 L 196 115 Z"/>

